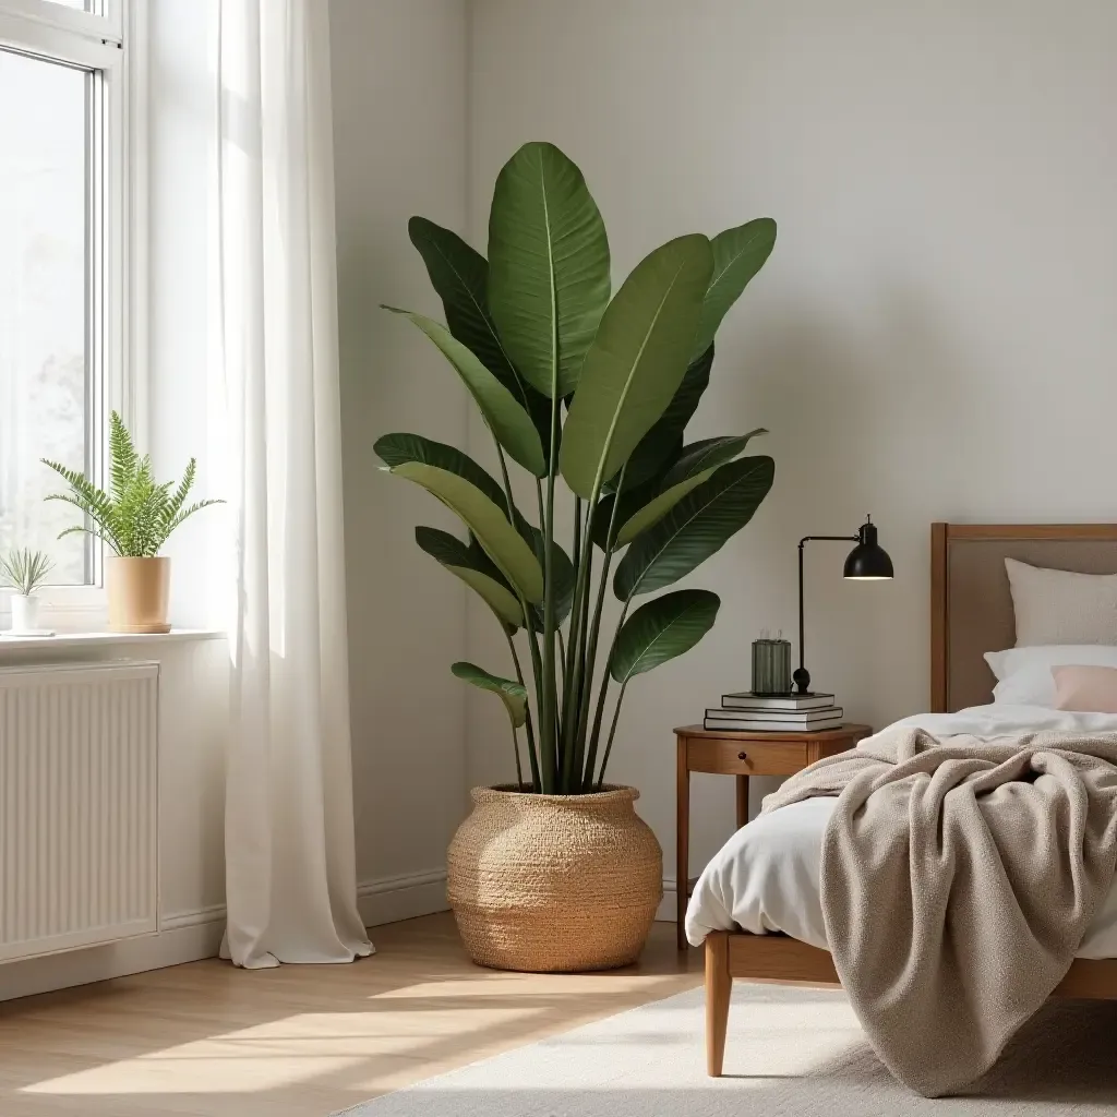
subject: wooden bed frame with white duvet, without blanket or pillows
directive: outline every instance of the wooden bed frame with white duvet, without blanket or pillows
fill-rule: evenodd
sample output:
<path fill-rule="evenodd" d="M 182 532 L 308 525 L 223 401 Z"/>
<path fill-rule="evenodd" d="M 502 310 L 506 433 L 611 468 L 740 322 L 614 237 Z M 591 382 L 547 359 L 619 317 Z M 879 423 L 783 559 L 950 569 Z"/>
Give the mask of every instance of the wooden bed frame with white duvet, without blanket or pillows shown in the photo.
<path fill-rule="evenodd" d="M 1117 731 L 1111 715 L 991 707 L 994 677 L 983 658 L 986 651 L 1012 647 L 1015 638 L 1004 560 L 1115 574 L 1117 524 L 933 524 L 930 543 L 932 712 L 908 720 L 939 733 L 995 733 L 1031 727 L 1044 718 L 1052 728 L 1068 725 L 1060 718 L 1094 718 L 1086 727 Z M 965 729 L 954 728 L 963 723 Z M 738 831 L 725 856 L 699 878 L 687 929 L 691 942 L 705 943 L 706 1065 L 712 1077 L 722 1075 L 734 978 L 838 982 L 824 948 L 821 908 L 811 904 L 818 894 L 819 839 L 831 808 L 827 801 L 809 800 L 756 820 L 745 828 L 747 834 Z M 750 895 L 750 881 L 755 895 Z M 1098 911 L 1054 995 L 1117 999 L 1117 889 Z"/>

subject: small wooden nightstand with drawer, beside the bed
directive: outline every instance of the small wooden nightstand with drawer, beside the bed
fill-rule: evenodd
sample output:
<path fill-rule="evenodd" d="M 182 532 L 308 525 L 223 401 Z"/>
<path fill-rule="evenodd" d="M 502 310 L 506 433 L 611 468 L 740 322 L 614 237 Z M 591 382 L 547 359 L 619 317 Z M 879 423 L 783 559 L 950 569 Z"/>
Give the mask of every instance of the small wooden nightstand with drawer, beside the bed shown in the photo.
<path fill-rule="evenodd" d="M 794 775 L 822 760 L 852 748 L 872 729 L 867 725 L 843 725 L 819 733 L 734 733 L 685 725 L 675 731 L 678 741 L 678 813 L 675 839 L 675 895 L 679 949 L 687 947 L 682 923 L 695 881 L 688 876 L 690 850 L 690 773 L 737 777 L 737 828 L 748 821 L 751 775 Z"/>

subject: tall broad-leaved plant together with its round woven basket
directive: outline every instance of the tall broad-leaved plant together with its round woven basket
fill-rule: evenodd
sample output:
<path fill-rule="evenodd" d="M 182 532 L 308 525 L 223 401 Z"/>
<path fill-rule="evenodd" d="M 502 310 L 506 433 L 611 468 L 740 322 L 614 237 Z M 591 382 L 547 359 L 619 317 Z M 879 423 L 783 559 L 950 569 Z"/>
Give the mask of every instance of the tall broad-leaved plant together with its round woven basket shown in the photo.
<path fill-rule="evenodd" d="M 699 589 L 638 602 L 720 548 L 772 486 L 772 459 L 743 457 L 762 431 L 690 445 L 682 435 L 718 324 L 772 251 L 775 223 L 671 240 L 610 297 L 605 228 L 582 173 L 529 143 L 497 179 L 487 260 L 423 218 L 410 233 L 446 325 L 395 313 L 472 395 L 500 480 L 418 435 L 385 435 L 375 450 L 460 519 L 465 538 L 419 527 L 416 541 L 489 607 L 514 676 L 454 665 L 504 703 L 516 782 L 474 791 L 450 846 L 450 905 L 486 965 L 623 965 L 662 896 L 662 856 L 638 792 L 605 783 L 621 701 L 637 675 L 693 648 L 719 605 Z M 514 487 L 509 459 L 527 484 Z M 614 563 L 620 605 L 603 634 Z"/>

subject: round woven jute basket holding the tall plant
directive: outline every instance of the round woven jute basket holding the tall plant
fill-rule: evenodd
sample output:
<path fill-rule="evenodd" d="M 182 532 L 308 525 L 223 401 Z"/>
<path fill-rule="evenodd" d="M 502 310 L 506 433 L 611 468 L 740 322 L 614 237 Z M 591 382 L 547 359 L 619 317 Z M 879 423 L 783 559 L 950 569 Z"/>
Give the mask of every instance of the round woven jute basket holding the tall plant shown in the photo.
<path fill-rule="evenodd" d="M 663 895 L 663 855 L 634 787 L 532 795 L 476 787 L 450 843 L 447 896 L 469 956 L 528 973 L 637 960 Z"/>

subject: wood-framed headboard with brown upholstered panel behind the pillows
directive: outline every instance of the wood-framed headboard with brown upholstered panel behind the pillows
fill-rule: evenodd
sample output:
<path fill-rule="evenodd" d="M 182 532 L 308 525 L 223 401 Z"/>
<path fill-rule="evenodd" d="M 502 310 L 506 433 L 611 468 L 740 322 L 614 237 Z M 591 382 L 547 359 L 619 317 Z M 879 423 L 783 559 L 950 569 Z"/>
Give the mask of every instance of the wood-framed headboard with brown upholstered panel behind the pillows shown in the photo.
<path fill-rule="evenodd" d="M 1005 558 L 1080 574 L 1117 574 L 1117 524 L 932 524 L 930 708 L 993 699 L 982 658 L 1016 642 Z"/>

